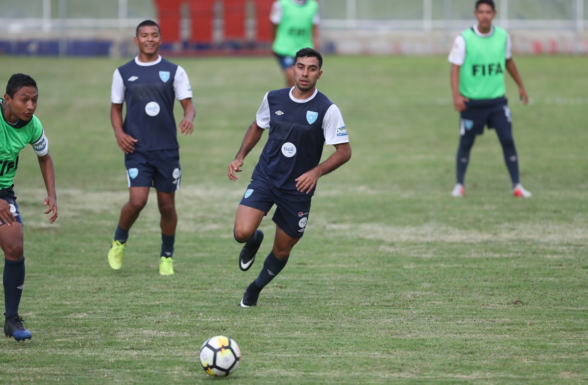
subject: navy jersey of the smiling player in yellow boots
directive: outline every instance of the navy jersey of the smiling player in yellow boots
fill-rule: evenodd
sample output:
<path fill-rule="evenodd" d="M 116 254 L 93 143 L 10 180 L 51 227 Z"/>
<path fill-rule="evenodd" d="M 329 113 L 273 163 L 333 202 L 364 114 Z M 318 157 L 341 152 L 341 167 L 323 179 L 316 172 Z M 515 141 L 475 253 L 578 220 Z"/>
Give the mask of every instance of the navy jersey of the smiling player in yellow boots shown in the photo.
<path fill-rule="evenodd" d="M 126 102 L 123 131 L 138 140 L 135 144 L 137 151 L 179 148 L 173 118 L 177 71 L 178 65 L 163 58 L 156 64 L 143 65 L 133 59 L 118 68 Z"/>

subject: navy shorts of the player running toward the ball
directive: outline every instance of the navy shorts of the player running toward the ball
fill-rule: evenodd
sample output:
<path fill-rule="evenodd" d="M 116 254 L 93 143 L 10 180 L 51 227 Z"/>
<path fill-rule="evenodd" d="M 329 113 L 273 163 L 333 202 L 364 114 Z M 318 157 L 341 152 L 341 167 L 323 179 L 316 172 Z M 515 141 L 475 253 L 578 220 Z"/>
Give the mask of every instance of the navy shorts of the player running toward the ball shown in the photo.
<path fill-rule="evenodd" d="M 247 191 L 239 204 L 256 208 L 266 215 L 275 203 L 275 214 L 272 221 L 284 233 L 292 238 L 302 238 L 310 213 L 312 196 L 282 193 L 277 188 L 263 181 L 253 180 L 247 186 Z"/>

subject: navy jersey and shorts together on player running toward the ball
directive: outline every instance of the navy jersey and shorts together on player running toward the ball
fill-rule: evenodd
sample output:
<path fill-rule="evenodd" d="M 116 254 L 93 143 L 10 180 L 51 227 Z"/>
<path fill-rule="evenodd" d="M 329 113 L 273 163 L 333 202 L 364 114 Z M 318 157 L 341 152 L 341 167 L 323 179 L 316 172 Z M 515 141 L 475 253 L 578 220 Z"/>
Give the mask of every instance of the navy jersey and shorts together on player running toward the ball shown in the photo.
<path fill-rule="evenodd" d="M 258 112 L 258 125 L 269 128 L 269 137 L 240 204 L 268 213 L 275 203 L 278 208 L 272 220 L 290 237 L 300 238 L 316 186 L 308 194 L 300 192 L 296 178 L 319 164 L 325 145 L 325 116 L 331 106 L 336 106 L 318 91 L 302 101 L 293 99 L 291 91 L 283 88 L 268 92 Z M 259 122 L 264 108 L 263 115 L 269 112 L 269 122 Z M 338 109 L 336 112 L 340 117 Z M 341 125 L 337 131 L 344 133 L 340 142 L 348 142 L 345 127 Z"/>

